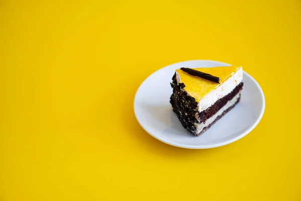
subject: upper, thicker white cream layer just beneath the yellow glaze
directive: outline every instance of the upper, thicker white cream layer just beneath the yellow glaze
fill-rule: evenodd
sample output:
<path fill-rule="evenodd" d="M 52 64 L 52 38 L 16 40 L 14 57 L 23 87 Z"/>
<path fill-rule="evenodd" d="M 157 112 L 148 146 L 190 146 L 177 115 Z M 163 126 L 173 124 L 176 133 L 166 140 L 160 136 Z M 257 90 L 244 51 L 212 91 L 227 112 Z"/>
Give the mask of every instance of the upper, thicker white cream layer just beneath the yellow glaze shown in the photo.
<path fill-rule="evenodd" d="M 205 95 L 198 103 L 199 112 L 207 110 L 218 99 L 230 93 L 242 81 L 242 68 L 237 70 L 225 82 L 220 84 L 216 89 Z"/>

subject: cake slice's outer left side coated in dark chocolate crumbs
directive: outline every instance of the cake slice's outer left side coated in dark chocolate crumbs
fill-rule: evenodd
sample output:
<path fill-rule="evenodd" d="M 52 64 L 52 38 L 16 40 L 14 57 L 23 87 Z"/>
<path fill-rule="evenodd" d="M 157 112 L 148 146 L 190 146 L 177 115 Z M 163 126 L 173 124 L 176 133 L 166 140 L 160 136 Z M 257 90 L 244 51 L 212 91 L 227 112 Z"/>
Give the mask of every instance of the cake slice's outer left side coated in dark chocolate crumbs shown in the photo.
<path fill-rule="evenodd" d="M 199 122 L 196 118 L 198 114 L 198 103 L 194 97 L 188 95 L 183 89 L 185 84 L 178 84 L 176 73 L 173 76 L 171 86 L 173 88 L 173 94 L 171 95 L 170 103 L 173 107 L 173 111 L 177 114 L 183 127 L 196 135 L 195 123 Z"/>

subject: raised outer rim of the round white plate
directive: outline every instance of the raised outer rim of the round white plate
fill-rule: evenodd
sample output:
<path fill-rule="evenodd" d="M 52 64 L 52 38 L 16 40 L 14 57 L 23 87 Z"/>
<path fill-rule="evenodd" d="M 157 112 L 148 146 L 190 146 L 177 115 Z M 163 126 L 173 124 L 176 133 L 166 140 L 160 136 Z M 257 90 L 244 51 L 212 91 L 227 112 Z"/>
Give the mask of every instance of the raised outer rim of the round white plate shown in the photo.
<path fill-rule="evenodd" d="M 257 125 L 258 123 L 261 121 L 262 117 L 263 117 L 263 114 L 264 114 L 264 110 L 265 110 L 265 96 L 264 96 L 264 93 L 262 91 L 262 88 L 260 87 L 260 85 L 258 84 L 258 82 L 250 75 L 248 74 L 246 71 L 243 70 L 243 73 L 248 76 L 255 84 L 256 86 L 259 88 L 259 91 L 260 91 L 260 94 L 261 94 L 261 99 L 262 99 L 262 108 L 261 108 L 261 111 L 260 111 L 260 114 L 259 114 L 259 117 L 257 118 L 257 120 L 255 121 L 255 123 L 249 127 L 246 131 L 244 131 L 243 133 L 241 133 L 240 135 L 236 136 L 235 138 L 232 138 L 230 140 L 227 140 L 227 141 L 224 141 L 224 142 L 220 142 L 220 143 L 215 143 L 215 144 L 210 144 L 210 145 L 185 145 L 185 144 L 179 144 L 179 143 L 174 143 L 174 142 L 171 142 L 169 140 L 165 140 L 165 139 L 162 139 L 160 136 L 156 136 L 156 135 L 153 135 L 152 133 L 150 133 L 142 124 L 141 122 L 138 120 L 137 118 L 137 114 L 136 114 L 136 107 L 135 107 L 135 103 L 136 103 L 136 97 L 137 97 L 137 93 L 140 89 L 140 87 L 143 85 L 143 83 L 150 77 L 152 76 L 153 74 L 163 70 L 164 68 L 167 68 L 169 66 L 172 66 L 172 65 L 175 65 L 175 64 L 179 64 L 179 63 L 183 63 L 183 62 L 191 62 L 191 61 L 210 61 L 210 62 L 217 62 L 217 63 L 220 63 L 222 65 L 231 65 L 231 64 L 228 64 L 228 63 L 224 63 L 224 62 L 221 62 L 221 61 L 214 61 L 214 60 L 187 60 L 187 61 L 180 61 L 180 62 L 176 62 L 176 63 L 173 63 L 173 64 L 170 64 L 170 65 L 167 65 L 165 67 L 162 67 L 156 71 L 154 71 L 152 74 L 148 75 L 142 82 L 141 84 L 139 85 L 139 87 L 137 88 L 136 90 L 136 93 L 135 93 L 135 96 L 134 96 L 134 102 L 133 102 L 133 109 L 134 109 L 134 114 L 135 114 L 135 118 L 137 120 L 137 122 L 139 123 L 139 125 L 143 128 L 143 130 L 148 133 L 150 136 L 153 136 L 155 139 L 165 143 L 165 144 L 168 144 L 168 145 L 172 145 L 172 146 L 175 146 L 175 147 L 180 147 L 180 148 L 186 148 L 186 149 L 210 149 L 210 148 L 216 148 L 216 147 L 221 147 L 221 146 L 224 146 L 224 145 L 227 145 L 227 144 L 231 144 L 243 137 L 245 137 L 248 133 L 250 133 Z"/>

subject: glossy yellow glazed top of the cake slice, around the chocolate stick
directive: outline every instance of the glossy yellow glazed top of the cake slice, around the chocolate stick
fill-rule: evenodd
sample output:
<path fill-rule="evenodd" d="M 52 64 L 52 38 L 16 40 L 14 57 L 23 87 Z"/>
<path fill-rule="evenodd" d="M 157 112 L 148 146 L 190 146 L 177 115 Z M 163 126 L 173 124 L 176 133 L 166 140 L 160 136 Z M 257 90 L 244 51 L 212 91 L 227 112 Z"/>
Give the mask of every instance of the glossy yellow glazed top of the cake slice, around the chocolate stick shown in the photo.
<path fill-rule="evenodd" d="M 184 89 L 189 95 L 194 97 L 199 102 L 205 95 L 216 89 L 220 84 L 229 79 L 241 66 L 221 66 L 209 68 L 192 68 L 194 70 L 202 71 L 220 78 L 220 83 L 208 81 L 206 79 L 196 77 L 177 69 L 177 79 L 180 83 L 184 83 Z M 179 77 L 178 77 L 179 76 Z M 180 78 L 180 80 L 179 80 Z M 236 81 L 236 80 L 235 80 Z"/>

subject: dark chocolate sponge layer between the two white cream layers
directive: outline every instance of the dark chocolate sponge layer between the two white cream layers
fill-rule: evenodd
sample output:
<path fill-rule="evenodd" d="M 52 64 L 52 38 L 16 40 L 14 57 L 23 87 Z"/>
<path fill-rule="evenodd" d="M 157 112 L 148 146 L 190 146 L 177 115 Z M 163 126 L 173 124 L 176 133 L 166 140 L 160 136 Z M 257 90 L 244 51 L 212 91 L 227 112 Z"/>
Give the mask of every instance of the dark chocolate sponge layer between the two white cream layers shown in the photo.
<path fill-rule="evenodd" d="M 231 100 L 240 90 L 242 90 L 243 82 L 240 82 L 230 93 L 220 98 L 207 110 L 199 113 L 199 123 L 205 122 L 207 119 L 215 115 L 221 108 L 223 108 L 229 100 Z"/>

